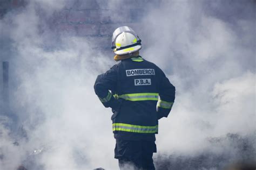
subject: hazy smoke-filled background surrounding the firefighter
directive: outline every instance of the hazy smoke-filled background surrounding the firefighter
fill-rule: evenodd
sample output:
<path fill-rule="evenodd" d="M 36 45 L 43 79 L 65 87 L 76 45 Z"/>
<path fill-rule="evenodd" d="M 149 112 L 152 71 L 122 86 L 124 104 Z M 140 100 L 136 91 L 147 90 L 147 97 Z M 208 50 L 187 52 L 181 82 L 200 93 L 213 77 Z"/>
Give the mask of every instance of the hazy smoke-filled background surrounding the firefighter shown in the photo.
<path fill-rule="evenodd" d="M 0 20 L 0 59 L 10 64 L 0 169 L 118 169 L 112 112 L 93 84 L 116 63 L 111 33 L 123 25 L 176 86 L 173 109 L 159 122 L 156 167 L 220 169 L 255 160 L 255 1 L 22 4 Z"/>

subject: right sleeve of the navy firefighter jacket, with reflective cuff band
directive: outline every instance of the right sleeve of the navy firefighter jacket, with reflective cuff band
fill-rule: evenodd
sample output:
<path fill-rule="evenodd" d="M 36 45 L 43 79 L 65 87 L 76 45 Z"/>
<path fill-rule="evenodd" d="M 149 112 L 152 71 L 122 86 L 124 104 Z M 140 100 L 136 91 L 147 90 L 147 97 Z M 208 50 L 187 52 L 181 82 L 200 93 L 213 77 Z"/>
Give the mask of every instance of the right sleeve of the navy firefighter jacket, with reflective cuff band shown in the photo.
<path fill-rule="evenodd" d="M 164 72 L 159 68 L 159 97 L 157 103 L 158 119 L 167 117 L 175 99 L 175 87 L 170 83 Z"/>

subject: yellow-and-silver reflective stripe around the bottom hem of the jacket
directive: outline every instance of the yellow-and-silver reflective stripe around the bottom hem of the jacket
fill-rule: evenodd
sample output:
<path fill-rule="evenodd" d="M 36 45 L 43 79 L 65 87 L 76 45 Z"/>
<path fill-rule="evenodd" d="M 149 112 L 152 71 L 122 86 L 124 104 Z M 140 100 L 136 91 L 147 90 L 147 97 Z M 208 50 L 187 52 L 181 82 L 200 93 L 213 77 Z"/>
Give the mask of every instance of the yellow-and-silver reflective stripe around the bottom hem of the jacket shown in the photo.
<path fill-rule="evenodd" d="M 140 125 L 131 125 L 125 123 L 113 123 L 113 131 L 125 131 L 125 132 L 135 132 L 135 133 L 157 133 L 158 125 L 156 126 L 140 126 Z"/>

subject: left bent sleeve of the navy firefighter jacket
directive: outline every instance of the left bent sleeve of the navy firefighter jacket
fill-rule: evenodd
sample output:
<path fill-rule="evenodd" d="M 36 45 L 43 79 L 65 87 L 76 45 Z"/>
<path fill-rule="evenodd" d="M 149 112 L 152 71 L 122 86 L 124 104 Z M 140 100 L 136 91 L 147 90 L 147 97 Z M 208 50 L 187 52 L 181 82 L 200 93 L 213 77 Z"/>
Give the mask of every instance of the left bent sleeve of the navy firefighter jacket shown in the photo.
<path fill-rule="evenodd" d="M 107 70 L 106 73 L 98 75 L 94 89 L 99 100 L 102 102 L 104 107 L 118 109 L 120 102 L 116 100 L 111 94 L 111 91 L 116 91 L 117 86 L 117 65 L 114 65 L 111 69 Z"/>

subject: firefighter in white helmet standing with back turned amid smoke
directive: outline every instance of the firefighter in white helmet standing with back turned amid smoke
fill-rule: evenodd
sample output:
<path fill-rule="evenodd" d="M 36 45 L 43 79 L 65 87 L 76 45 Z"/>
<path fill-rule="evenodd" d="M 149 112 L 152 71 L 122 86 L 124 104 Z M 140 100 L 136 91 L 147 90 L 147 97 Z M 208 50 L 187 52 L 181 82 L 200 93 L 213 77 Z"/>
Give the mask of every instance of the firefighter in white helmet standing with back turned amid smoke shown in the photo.
<path fill-rule="evenodd" d="M 140 42 L 130 27 L 118 27 L 112 48 L 114 60 L 121 62 L 99 75 L 94 86 L 103 105 L 112 108 L 114 158 L 120 169 L 154 169 L 158 119 L 169 115 L 175 98 L 163 71 L 139 55 Z"/>

